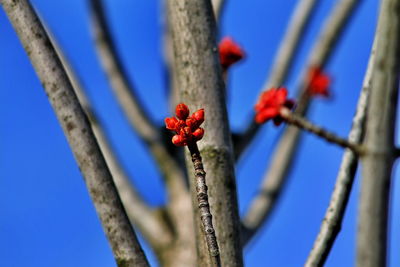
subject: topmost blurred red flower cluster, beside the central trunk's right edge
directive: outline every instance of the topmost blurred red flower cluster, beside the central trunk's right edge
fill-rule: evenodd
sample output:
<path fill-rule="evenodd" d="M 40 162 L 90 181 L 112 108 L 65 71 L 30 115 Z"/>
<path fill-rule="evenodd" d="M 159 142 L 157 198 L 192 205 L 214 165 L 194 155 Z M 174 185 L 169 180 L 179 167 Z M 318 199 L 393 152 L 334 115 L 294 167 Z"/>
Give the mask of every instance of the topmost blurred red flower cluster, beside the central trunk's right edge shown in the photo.
<path fill-rule="evenodd" d="M 219 60 L 223 70 L 227 70 L 244 56 L 244 51 L 232 38 L 225 37 L 219 43 Z"/>

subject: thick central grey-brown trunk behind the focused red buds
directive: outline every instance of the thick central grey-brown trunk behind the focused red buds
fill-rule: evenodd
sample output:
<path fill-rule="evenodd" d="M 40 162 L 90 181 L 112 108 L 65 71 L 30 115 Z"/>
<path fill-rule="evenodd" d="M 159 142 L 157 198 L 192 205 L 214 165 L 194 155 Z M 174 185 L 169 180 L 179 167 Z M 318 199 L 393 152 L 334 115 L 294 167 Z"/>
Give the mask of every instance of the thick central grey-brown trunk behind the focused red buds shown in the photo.
<path fill-rule="evenodd" d="M 190 108 L 204 108 L 206 112 L 206 134 L 199 147 L 208 174 L 221 263 L 223 266 L 242 266 L 232 145 L 211 3 L 209 0 L 169 0 L 167 6 L 182 100 Z M 195 185 L 191 186 L 193 205 L 196 205 Z M 207 266 L 210 264 L 208 251 L 201 238 L 198 215 L 195 218 L 198 265 Z"/>

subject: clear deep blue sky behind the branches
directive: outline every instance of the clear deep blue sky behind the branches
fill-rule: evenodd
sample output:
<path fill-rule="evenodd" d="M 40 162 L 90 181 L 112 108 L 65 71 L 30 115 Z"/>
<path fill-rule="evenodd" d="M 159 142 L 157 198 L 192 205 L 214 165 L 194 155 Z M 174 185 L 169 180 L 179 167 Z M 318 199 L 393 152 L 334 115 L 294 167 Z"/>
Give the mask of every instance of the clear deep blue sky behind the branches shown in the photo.
<path fill-rule="evenodd" d="M 162 125 L 168 114 L 163 78 L 161 1 L 107 0 L 108 18 L 129 78 Z M 231 127 L 243 129 L 271 68 L 297 1 L 227 0 L 221 36 L 232 36 L 247 58 L 229 77 Z M 337 1 L 320 1 L 285 84 L 294 95 L 323 19 Z M 377 1 L 361 1 L 327 71 L 333 98 L 318 99 L 310 119 L 346 136 L 372 43 Z M 54 32 L 100 113 L 118 156 L 152 206 L 166 201 L 154 162 L 110 90 L 93 47 L 87 1 L 32 0 Z M 0 267 L 115 266 L 85 184 L 43 88 L 4 12 L 0 11 Z M 283 127 L 263 127 L 237 165 L 240 212 L 256 194 Z M 244 250 L 247 266 L 304 263 L 330 199 L 342 149 L 304 134 L 285 193 L 271 220 Z M 390 266 L 400 265 L 399 174 L 394 171 Z M 342 231 L 326 266 L 353 266 L 359 177 Z M 142 242 L 142 244 L 144 244 Z M 145 244 L 144 244 L 145 245 Z M 154 256 L 145 245 L 151 262 Z"/>

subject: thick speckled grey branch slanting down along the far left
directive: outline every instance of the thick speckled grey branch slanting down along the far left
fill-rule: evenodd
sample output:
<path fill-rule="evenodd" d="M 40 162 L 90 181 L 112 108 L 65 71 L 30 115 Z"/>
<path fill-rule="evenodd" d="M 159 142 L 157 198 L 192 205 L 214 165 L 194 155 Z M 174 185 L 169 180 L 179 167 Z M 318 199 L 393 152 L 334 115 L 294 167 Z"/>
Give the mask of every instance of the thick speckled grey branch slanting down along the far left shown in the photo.
<path fill-rule="evenodd" d="M 89 122 L 39 19 L 25 0 L 1 0 L 0 3 L 64 130 L 117 264 L 148 266 Z"/>

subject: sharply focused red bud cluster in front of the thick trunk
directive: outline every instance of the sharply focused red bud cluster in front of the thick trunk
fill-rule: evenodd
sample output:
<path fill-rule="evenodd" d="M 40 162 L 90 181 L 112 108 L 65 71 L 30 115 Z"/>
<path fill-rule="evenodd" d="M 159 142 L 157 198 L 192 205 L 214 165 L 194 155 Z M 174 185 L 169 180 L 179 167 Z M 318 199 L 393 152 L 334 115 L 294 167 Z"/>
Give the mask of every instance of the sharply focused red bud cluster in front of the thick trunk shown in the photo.
<path fill-rule="evenodd" d="M 176 117 L 165 119 L 166 128 L 176 133 L 172 137 L 174 145 L 187 146 L 203 138 L 204 129 L 199 126 L 204 122 L 204 109 L 199 109 L 189 116 L 189 108 L 180 103 L 175 108 L 175 115 Z"/>

